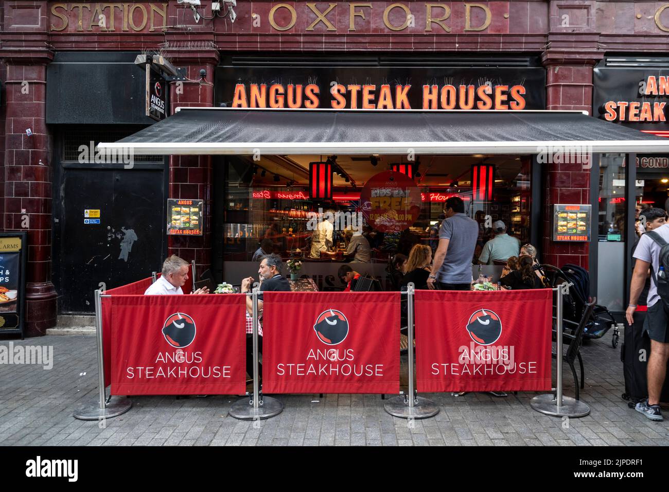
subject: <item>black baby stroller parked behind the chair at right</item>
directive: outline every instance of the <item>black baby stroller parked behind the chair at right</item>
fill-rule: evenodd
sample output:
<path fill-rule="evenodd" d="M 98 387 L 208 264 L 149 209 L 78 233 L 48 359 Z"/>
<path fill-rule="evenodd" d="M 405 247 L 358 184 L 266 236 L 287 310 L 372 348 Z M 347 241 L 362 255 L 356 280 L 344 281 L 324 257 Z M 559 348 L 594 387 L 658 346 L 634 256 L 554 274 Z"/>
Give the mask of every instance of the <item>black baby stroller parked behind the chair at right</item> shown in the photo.
<path fill-rule="evenodd" d="M 583 315 L 587 302 L 590 299 L 590 283 L 587 270 L 575 264 L 565 264 L 562 268 L 557 268 L 552 265 L 542 265 L 545 269 L 546 275 L 551 280 L 552 286 L 558 286 L 565 280 L 571 282 L 569 287 L 569 294 L 565 296 L 564 307 L 564 330 L 569 333 L 571 327 L 577 325 Z M 620 333 L 615 325 L 615 319 L 611 312 L 604 306 L 595 305 L 593 307 L 591 319 L 585 325 L 583 331 L 583 338 L 597 339 L 603 337 L 613 324 L 613 335 L 611 337 L 611 345 L 615 349 L 620 339 Z"/>

